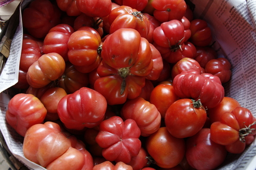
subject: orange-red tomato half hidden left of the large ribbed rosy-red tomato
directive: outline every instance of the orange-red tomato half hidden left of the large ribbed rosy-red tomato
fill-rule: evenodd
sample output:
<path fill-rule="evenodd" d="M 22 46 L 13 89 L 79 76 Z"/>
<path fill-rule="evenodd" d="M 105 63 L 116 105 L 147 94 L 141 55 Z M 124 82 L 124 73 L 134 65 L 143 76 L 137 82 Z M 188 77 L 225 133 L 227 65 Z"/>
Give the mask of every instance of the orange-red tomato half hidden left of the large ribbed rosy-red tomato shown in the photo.
<path fill-rule="evenodd" d="M 58 120 L 59 116 L 57 113 L 58 102 L 63 98 L 67 93 L 63 88 L 52 87 L 49 88 L 43 95 L 40 97 L 40 101 L 45 106 L 47 114 L 45 120 L 54 121 Z"/>

